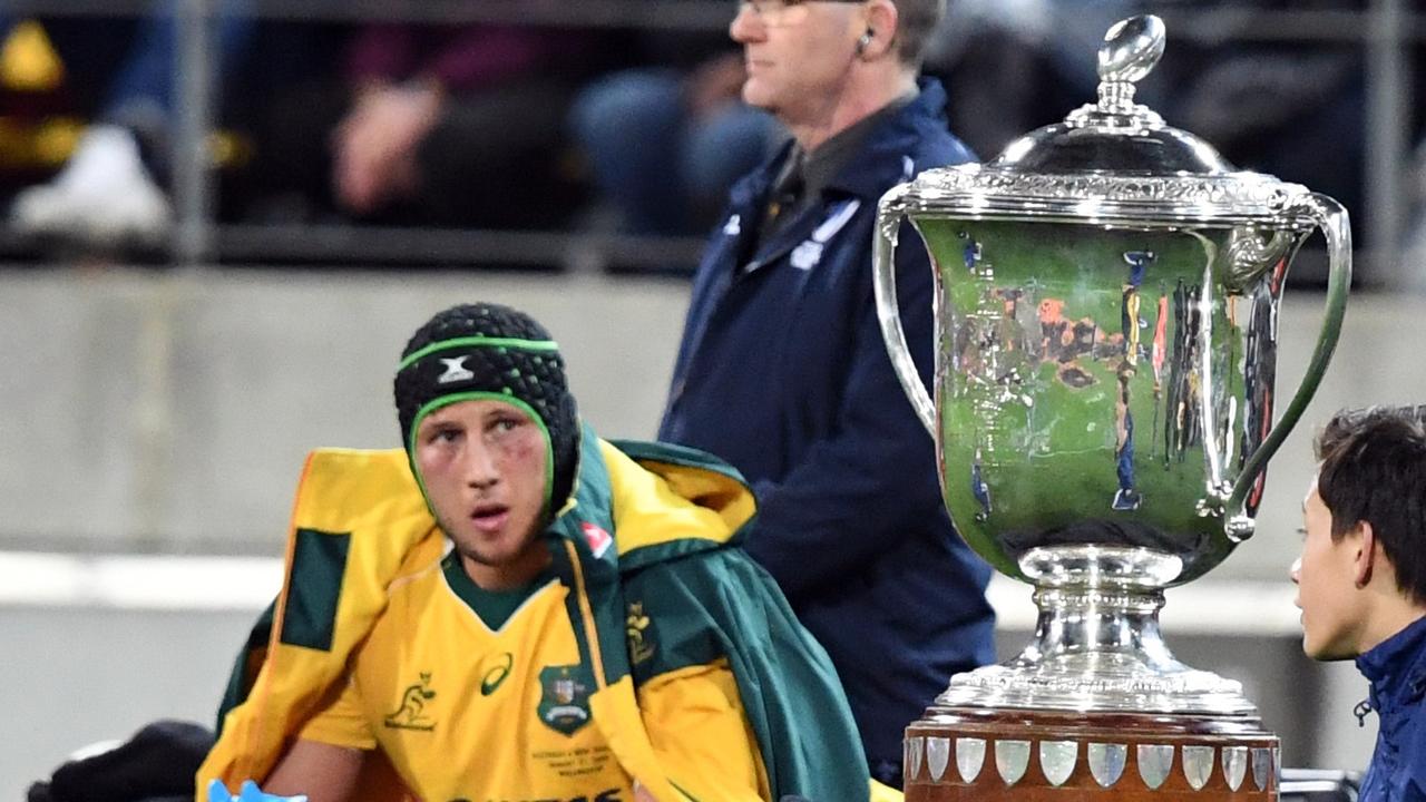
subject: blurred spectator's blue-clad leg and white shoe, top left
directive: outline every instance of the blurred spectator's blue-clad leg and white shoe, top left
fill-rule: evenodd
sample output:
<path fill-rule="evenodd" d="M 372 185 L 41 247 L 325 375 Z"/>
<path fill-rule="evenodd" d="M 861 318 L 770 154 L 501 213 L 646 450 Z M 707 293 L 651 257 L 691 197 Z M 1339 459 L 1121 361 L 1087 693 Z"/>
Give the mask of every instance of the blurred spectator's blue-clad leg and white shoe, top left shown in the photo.
<path fill-rule="evenodd" d="M 252 34 L 248 0 L 222 0 L 214 23 L 214 84 Z M 21 190 L 10 221 L 21 233 L 98 245 L 153 244 L 171 224 L 161 186 L 175 101 L 175 0 L 128 24 L 40 19 L 64 70 L 67 100 L 93 114 L 68 161 L 48 183 Z M 16 20 L 0 20 L 9 30 Z M 123 31 L 116 36 L 116 29 Z M 124 36 L 131 33 L 131 36 Z"/>

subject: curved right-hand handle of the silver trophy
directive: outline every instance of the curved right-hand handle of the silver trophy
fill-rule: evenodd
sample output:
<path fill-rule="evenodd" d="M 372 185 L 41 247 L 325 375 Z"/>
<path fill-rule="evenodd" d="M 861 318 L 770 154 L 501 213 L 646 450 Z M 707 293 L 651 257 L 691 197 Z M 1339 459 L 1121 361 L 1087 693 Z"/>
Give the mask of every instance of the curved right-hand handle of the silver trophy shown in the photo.
<path fill-rule="evenodd" d="M 1298 425 L 1302 412 L 1308 408 L 1308 402 L 1312 401 L 1312 395 L 1318 391 L 1318 385 L 1322 384 L 1322 375 L 1328 370 L 1328 362 L 1332 361 L 1332 351 L 1336 350 L 1338 337 L 1342 334 L 1346 295 L 1352 287 L 1352 227 L 1348 224 L 1346 210 L 1338 201 L 1319 193 L 1303 197 L 1299 210 L 1312 217 L 1328 241 L 1330 263 L 1322 334 L 1318 335 L 1318 344 L 1312 350 L 1312 361 L 1308 362 L 1308 370 L 1302 375 L 1302 384 L 1298 385 L 1298 392 L 1292 397 L 1292 402 L 1288 404 L 1286 411 L 1282 412 L 1282 418 L 1278 420 L 1278 424 L 1263 438 L 1262 445 L 1248 458 L 1242 472 L 1238 475 L 1238 482 L 1233 484 L 1232 495 L 1228 497 L 1226 529 L 1228 537 L 1235 542 L 1248 539 L 1252 535 L 1252 518 L 1243 511 L 1248 494 L 1252 492 L 1252 487 L 1258 482 L 1258 477 L 1262 474 L 1268 460 L 1272 460 L 1278 447 L 1292 432 L 1292 428 Z"/>

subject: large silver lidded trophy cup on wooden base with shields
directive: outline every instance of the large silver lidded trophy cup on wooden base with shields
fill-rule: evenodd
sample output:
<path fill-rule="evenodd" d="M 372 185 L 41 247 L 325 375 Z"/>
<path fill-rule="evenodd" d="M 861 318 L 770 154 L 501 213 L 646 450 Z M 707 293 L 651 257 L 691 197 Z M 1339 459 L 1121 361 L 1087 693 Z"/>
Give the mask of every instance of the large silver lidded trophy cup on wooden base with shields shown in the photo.
<path fill-rule="evenodd" d="M 1276 796 L 1276 736 L 1238 682 L 1174 659 L 1158 611 L 1252 535 L 1336 345 L 1350 238 L 1333 200 L 1134 103 L 1164 43 L 1158 17 L 1118 23 L 1097 104 L 881 201 L 881 328 L 945 504 L 1040 608 L 1020 656 L 951 678 L 908 726 L 908 799 Z M 903 218 L 937 273 L 934 402 L 896 307 Z M 1283 278 L 1315 230 L 1322 334 L 1273 424 Z"/>

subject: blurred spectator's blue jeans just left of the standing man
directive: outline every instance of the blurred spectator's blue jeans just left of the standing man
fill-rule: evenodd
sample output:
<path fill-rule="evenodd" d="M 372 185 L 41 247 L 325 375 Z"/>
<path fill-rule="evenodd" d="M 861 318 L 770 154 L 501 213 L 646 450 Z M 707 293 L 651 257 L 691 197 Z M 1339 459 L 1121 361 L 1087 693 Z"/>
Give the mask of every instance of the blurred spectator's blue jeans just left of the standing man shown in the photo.
<path fill-rule="evenodd" d="M 637 46 L 645 66 L 582 90 L 570 128 L 620 230 L 703 234 L 733 181 L 787 134 L 743 103 L 743 56 L 723 29 L 646 30 Z"/>

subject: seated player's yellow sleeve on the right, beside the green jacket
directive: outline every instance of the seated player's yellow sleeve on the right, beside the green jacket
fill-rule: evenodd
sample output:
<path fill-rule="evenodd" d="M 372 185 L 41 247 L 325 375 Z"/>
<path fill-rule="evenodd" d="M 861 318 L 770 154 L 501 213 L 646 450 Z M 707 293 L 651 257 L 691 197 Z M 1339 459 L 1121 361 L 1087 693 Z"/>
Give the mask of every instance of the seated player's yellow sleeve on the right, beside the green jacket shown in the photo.
<path fill-rule="evenodd" d="M 659 762 L 684 796 L 767 798 L 757 738 L 727 661 L 655 676 L 639 688 L 639 711 Z"/>

